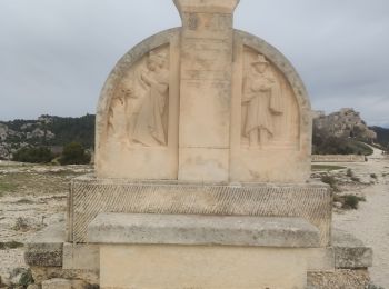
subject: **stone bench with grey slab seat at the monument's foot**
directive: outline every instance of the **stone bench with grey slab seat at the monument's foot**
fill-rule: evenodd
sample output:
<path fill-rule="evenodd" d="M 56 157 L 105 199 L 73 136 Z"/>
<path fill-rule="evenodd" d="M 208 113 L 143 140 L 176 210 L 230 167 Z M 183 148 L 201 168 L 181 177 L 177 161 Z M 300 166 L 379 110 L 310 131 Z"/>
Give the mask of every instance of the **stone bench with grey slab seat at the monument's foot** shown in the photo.
<path fill-rule="evenodd" d="M 101 288 L 306 288 L 320 235 L 302 218 L 101 213 L 88 241 Z"/>

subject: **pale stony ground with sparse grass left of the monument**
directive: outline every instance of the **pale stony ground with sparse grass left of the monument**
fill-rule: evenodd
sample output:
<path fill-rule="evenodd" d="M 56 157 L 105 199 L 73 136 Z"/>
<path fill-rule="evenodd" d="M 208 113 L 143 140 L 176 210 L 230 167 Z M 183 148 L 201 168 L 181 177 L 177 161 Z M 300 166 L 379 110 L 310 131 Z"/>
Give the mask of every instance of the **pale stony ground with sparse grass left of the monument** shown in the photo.
<path fill-rule="evenodd" d="M 70 179 L 91 172 L 90 166 L 38 166 L 0 161 L 0 276 L 26 267 L 23 247 L 44 227 L 64 222 Z"/>

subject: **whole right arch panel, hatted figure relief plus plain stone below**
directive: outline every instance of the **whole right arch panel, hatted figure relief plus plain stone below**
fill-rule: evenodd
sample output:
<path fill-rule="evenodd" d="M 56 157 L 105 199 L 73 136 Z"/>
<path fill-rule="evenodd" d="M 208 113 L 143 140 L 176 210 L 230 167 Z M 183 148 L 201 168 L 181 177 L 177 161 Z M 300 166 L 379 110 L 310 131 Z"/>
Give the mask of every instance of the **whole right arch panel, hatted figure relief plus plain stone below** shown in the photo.
<path fill-rule="evenodd" d="M 230 181 L 299 182 L 307 179 L 300 108 L 272 57 L 235 39 Z M 303 160 L 303 161 L 301 161 Z"/>

